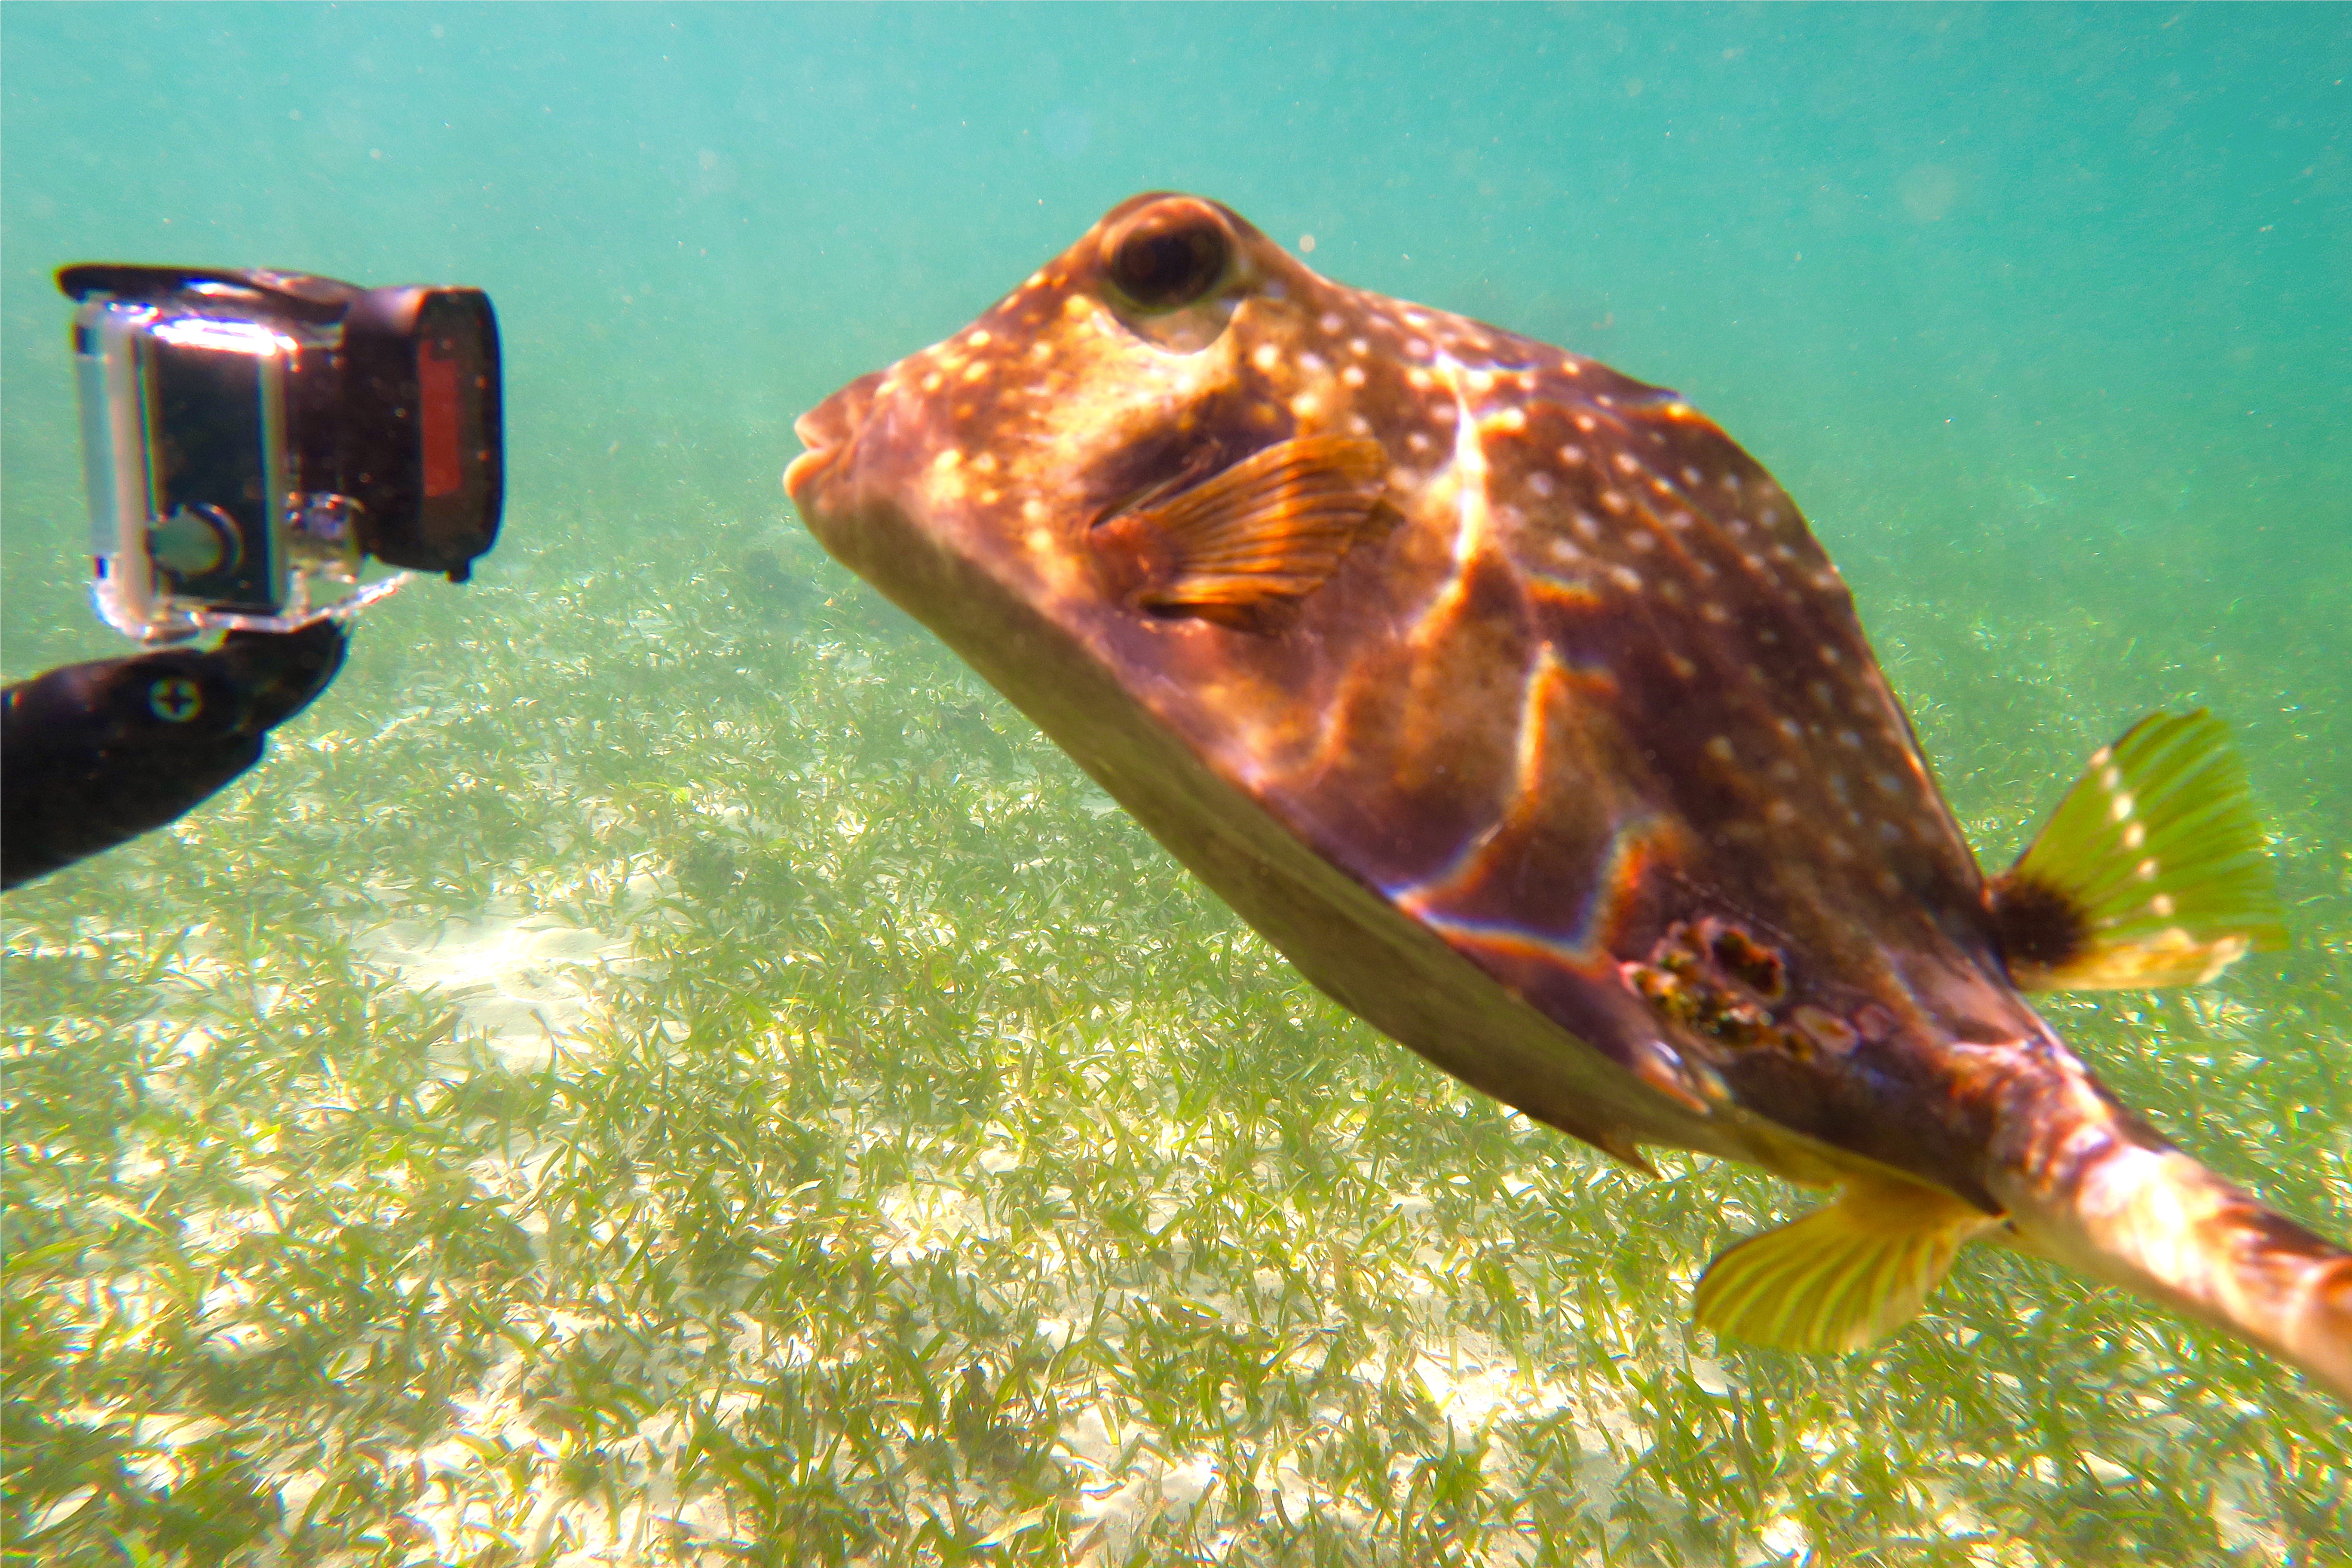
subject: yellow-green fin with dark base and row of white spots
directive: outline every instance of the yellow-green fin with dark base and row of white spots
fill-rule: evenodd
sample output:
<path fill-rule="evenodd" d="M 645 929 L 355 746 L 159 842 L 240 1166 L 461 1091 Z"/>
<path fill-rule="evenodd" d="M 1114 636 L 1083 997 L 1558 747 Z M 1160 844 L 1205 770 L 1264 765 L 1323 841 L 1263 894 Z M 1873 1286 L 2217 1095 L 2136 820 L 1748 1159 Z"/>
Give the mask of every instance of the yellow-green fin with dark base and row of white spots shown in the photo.
<path fill-rule="evenodd" d="M 2286 945 L 2246 764 L 2201 708 L 2091 757 L 1985 898 L 2025 990 L 2197 985 Z"/>

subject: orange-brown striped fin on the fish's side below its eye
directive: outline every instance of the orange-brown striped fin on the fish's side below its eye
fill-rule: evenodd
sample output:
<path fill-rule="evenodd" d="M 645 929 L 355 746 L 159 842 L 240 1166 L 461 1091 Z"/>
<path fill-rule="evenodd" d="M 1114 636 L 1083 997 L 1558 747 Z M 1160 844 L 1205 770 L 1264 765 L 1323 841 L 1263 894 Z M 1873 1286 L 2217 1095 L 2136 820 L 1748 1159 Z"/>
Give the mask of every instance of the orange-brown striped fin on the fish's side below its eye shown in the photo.
<path fill-rule="evenodd" d="M 1167 552 L 1136 602 L 1202 611 L 1315 592 L 1381 503 L 1385 468 L 1378 442 L 1310 435 L 1134 512 Z"/>

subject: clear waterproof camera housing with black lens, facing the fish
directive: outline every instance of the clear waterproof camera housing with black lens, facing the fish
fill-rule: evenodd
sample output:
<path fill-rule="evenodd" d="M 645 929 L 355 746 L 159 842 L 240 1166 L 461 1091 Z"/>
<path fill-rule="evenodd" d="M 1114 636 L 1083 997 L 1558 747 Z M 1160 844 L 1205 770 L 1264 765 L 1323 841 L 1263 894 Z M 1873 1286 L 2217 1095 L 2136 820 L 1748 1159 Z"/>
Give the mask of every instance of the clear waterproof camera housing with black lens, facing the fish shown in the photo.
<path fill-rule="evenodd" d="M 499 324 L 480 289 L 71 266 L 92 597 L 141 642 L 289 632 L 463 583 L 499 538 Z"/>

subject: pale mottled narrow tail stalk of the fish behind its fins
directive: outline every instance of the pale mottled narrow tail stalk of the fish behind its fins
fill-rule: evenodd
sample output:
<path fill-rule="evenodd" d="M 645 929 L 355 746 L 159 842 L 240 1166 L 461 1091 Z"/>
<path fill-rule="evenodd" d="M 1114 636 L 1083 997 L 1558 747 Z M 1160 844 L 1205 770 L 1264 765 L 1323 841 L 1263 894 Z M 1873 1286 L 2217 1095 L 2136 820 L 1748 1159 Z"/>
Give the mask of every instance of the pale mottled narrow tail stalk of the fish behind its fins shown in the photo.
<path fill-rule="evenodd" d="M 2063 1065 L 2051 1093 L 2011 1105 L 2011 1147 L 1990 1173 L 2020 1241 L 2227 1328 L 2352 1399 L 2352 1253 L 2164 1143 L 2070 1056 Z"/>

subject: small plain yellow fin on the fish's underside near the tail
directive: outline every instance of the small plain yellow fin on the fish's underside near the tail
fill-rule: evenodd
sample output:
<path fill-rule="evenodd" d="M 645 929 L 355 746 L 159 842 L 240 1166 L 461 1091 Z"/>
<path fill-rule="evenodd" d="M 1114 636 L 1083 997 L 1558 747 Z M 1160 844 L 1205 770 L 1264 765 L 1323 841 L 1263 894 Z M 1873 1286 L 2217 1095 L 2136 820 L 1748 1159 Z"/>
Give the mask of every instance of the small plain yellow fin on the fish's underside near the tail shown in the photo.
<path fill-rule="evenodd" d="M 1778 1349 L 1863 1349 L 1917 1316 L 1959 1244 L 1994 1225 L 1933 1187 L 1856 1175 L 1828 1208 L 1710 1262 L 1698 1324 Z"/>

